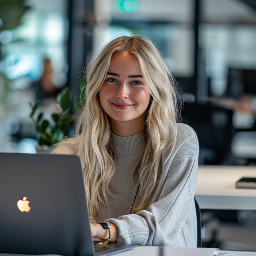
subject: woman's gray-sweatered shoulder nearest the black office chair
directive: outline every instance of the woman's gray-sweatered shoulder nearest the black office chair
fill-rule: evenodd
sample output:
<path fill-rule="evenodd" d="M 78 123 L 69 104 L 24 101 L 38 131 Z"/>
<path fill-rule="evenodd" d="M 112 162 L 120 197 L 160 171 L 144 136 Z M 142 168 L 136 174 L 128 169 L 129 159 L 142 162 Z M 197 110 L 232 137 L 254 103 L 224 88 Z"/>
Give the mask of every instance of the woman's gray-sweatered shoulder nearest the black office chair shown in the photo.
<path fill-rule="evenodd" d="M 177 124 L 177 141 L 172 159 L 198 157 L 199 143 L 196 132 L 187 124 Z"/>

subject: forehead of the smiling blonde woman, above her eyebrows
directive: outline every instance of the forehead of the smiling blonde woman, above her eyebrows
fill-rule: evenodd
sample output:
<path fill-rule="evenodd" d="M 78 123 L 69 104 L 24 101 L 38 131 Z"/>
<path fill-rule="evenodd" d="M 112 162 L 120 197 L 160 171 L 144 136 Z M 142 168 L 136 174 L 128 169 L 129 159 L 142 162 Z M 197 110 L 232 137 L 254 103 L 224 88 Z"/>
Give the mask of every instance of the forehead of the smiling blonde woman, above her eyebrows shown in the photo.
<path fill-rule="evenodd" d="M 128 52 L 118 52 L 112 55 L 109 71 L 114 71 L 113 69 L 126 72 L 137 72 L 140 74 L 142 73 L 137 57 Z"/>

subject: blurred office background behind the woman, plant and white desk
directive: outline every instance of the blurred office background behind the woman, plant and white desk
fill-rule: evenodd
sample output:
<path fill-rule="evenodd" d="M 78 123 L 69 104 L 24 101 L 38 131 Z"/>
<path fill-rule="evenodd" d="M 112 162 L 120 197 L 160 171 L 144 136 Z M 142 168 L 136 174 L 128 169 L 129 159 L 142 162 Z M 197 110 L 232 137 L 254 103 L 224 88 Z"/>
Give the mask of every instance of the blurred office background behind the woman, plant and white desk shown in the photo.
<path fill-rule="evenodd" d="M 28 102 L 41 100 L 50 119 L 93 54 L 132 34 L 153 41 L 175 76 L 199 164 L 256 165 L 255 0 L 0 0 L 0 152 L 36 153 Z M 255 232 L 254 212 L 228 215 L 219 240 Z"/>

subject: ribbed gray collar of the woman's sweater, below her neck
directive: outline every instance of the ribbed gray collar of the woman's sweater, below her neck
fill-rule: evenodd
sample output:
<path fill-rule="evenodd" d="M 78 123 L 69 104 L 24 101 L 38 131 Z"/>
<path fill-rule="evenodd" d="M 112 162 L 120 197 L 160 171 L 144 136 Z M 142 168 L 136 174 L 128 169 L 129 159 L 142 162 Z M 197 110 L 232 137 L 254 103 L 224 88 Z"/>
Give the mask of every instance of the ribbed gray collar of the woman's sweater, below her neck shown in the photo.
<path fill-rule="evenodd" d="M 111 144 L 119 155 L 140 154 L 146 145 L 143 132 L 128 137 L 121 137 L 112 132 Z"/>

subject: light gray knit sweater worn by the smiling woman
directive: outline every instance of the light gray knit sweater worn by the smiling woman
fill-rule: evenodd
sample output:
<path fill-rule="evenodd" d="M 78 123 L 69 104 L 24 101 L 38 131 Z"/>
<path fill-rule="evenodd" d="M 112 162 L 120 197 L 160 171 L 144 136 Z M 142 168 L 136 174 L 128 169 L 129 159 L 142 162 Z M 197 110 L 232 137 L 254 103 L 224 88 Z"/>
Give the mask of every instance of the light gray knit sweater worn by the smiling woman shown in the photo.
<path fill-rule="evenodd" d="M 110 212 L 102 207 L 108 221 L 118 228 L 117 242 L 138 245 L 196 247 L 197 228 L 194 195 L 196 190 L 199 144 L 195 131 L 186 124 L 178 124 L 176 147 L 166 161 L 162 156 L 162 176 L 147 210 L 129 214 L 133 191 L 138 184 L 133 172 L 145 146 L 143 133 L 129 137 L 112 134 L 112 146 L 117 153 L 118 166 L 114 176 L 116 199 L 109 201 Z M 60 143 L 54 154 L 78 154 L 79 137 Z M 166 163 L 165 163 L 166 161 Z M 140 190 L 138 191 L 138 198 Z M 108 218 L 106 220 L 106 218 Z"/>

